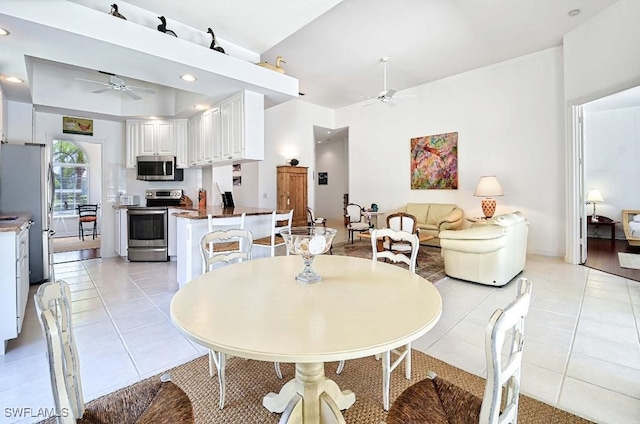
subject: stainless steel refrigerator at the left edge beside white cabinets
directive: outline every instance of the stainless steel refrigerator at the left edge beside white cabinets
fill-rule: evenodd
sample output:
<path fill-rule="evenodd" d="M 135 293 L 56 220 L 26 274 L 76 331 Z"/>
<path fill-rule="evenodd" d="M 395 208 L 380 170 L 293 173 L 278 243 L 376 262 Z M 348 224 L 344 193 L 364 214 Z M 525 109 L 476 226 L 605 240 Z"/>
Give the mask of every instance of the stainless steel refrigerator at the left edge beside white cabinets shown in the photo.
<path fill-rule="evenodd" d="M 53 279 L 51 149 L 40 144 L 0 146 L 0 213 L 26 212 L 31 284 Z"/>

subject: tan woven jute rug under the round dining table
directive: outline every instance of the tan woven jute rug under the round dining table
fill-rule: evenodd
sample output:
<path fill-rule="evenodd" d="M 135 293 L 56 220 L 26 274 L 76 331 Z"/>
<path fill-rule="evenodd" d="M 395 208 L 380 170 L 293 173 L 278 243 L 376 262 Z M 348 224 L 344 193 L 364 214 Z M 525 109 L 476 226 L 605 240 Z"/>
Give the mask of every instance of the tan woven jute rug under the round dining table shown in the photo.
<path fill-rule="evenodd" d="M 484 393 L 485 380 L 455 368 L 424 353 L 412 351 L 413 378 L 406 380 L 404 371 L 391 374 L 391 401 L 408 386 L 422 380 L 427 371 L 464 387 L 478 396 Z M 373 356 L 346 362 L 344 370 L 336 375 L 337 362 L 325 364 L 327 378 L 342 389 L 356 394 L 356 403 L 343 411 L 347 423 L 380 424 L 387 413 L 382 409 L 382 367 Z M 262 398 L 269 392 L 278 392 L 285 382 L 294 377 L 292 364 L 281 364 L 283 380 L 276 377 L 273 363 L 232 358 L 227 362 L 226 402 L 218 409 L 218 379 L 209 377 L 208 357 L 202 356 L 171 369 L 171 379 L 180 386 L 193 403 L 196 423 L 277 423 L 281 414 L 267 411 Z M 401 365 L 399 368 L 402 368 Z M 153 377 L 157 378 L 157 377 Z M 520 395 L 519 423 L 569 424 L 589 423 L 566 411 L 554 408 L 531 397 Z"/>

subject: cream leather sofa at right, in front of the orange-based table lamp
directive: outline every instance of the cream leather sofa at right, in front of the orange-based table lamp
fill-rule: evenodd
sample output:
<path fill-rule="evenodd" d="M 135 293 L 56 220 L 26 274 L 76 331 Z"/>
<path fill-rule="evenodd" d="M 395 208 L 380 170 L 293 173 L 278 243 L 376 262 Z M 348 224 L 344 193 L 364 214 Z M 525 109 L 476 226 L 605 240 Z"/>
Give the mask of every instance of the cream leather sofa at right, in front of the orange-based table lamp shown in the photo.
<path fill-rule="evenodd" d="M 529 222 L 520 212 L 494 216 L 465 230 L 443 231 L 440 246 L 448 276 L 503 286 L 524 270 Z"/>

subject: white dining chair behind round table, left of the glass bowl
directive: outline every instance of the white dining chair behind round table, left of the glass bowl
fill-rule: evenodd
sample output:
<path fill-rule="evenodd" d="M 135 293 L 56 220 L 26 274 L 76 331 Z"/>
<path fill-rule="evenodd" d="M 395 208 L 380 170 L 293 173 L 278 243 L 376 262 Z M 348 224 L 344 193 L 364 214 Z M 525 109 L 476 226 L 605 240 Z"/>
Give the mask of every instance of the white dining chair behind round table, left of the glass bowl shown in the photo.
<path fill-rule="evenodd" d="M 226 246 L 224 249 L 216 249 L 216 245 Z M 236 250 L 229 250 L 230 245 L 238 246 Z M 249 230 L 219 230 L 205 234 L 200 239 L 200 253 L 202 255 L 202 273 L 212 270 L 214 264 L 229 264 L 233 262 L 243 262 L 251 260 L 251 250 L 253 247 L 253 234 Z M 231 317 L 230 317 L 231 318 Z M 209 376 L 213 378 L 218 373 L 218 383 L 220 385 L 220 400 L 218 407 L 224 408 L 225 399 L 225 368 L 227 355 L 224 352 L 209 350 Z M 274 363 L 278 378 L 282 378 L 280 364 Z"/>

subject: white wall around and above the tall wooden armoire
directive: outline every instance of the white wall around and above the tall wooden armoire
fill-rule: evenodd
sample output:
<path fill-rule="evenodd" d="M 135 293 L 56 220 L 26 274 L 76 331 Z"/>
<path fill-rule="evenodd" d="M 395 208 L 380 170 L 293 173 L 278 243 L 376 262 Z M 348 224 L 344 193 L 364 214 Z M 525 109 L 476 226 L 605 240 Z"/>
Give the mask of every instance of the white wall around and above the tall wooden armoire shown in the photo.
<path fill-rule="evenodd" d="M 276 166 L 286 165 L 288 160 L 296 158 L 300 161 L 298 166 L 309 167 L 307 197 L 309 207 L 315 210 L 313 126 L 336 128 L 334 111 L 292 100 L 265 110 L 264 117 L 264 160 L 259 164 L 258 173 L 259 207 L 276 207 Z M 242 181 L 244 184 L 244 178 Z"/>

